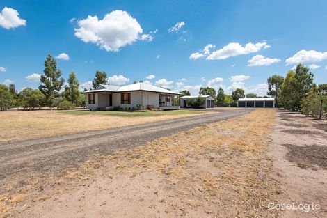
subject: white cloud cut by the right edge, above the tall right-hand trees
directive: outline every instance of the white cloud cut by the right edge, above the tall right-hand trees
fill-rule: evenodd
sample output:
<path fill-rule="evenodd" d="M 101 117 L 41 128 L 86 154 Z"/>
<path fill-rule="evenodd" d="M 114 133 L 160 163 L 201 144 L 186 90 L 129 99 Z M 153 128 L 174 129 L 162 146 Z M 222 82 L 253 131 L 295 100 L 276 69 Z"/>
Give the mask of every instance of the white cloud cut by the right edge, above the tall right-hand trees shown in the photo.
<path fill-rule="evenodd" d="M 306 51 L 301 50 L 294 54 L 292 57 L 289 57 L 286 59 L 286 65 L 290 64 L 298 64 L 298 63 L 314 63 L 314 62 L 320 62 L 327 59 L 327 52 L 317 52 L 314 50 Z"/>

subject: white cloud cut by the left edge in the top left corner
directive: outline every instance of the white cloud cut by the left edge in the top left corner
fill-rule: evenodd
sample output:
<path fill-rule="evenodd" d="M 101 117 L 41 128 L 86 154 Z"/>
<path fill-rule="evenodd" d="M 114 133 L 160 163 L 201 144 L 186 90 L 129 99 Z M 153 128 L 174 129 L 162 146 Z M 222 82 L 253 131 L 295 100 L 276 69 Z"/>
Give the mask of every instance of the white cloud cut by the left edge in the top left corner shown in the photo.
<path fill-rule="evenodd" d="M 4 29 L 26 26 L 26 20 L 19 17 L 17 10 L 4 7 L 0 13 L 0 26 Z"/>

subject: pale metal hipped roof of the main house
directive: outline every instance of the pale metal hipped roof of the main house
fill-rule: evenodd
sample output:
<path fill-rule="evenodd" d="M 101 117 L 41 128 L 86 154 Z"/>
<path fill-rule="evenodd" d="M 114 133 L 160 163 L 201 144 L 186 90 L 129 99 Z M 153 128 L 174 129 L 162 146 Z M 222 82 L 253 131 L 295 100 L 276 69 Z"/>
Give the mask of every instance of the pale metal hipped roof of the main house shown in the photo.
<path fill-rule="evenodd" d="M 158 86 L 153 86 L 151 84 L 145 84 L 143 82 L 137 82 L 135 84 L 130 84 L 127 86 L 99 85 L 94 90 L 85 91 L 83 93 L 97 93 L 102 91 L 117 92 L 117 93 L 128 92 L 128 91 L 150 91 L 155 93 L 182 95 L 181 93 L 177 93 L 175 91 L 171 91 L 166 88 L 161 88 Z"/>

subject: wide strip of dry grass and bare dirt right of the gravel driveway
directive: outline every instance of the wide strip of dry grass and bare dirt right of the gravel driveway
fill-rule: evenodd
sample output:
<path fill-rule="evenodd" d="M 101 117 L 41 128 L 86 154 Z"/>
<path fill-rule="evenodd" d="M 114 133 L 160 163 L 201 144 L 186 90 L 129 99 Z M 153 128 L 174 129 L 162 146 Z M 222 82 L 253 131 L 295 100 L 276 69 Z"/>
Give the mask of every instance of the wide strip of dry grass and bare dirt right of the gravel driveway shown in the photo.
<path fill-rule="evenodd" d="M 22 201 L 8 187 L 1 203 L 13 217 L 278 217 L 267 210 L 280 190 L 266 156 L 274 116 L 255 110 L 35 175 L 15 190 Z"/>

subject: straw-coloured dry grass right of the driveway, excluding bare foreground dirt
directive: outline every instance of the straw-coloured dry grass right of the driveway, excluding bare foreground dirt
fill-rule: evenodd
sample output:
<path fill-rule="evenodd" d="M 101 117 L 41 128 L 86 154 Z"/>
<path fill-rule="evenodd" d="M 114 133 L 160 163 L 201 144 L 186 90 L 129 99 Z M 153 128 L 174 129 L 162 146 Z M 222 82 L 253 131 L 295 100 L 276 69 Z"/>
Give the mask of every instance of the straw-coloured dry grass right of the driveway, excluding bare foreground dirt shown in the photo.
<path fill-rule="evenodd" d="M 117 175 L 133 178 L 154 172 L 171 185 L 174 196 L 160 198 L 150 208 L 164 203 L 170 217 L 176 211 L 185 216 L 186 208 L 204 211 L 208 216 L 278 217 L 266 209 L 269 202 L 277 201 L 279 189 L 270 177 L 271 161 L 266 157 L 267 134 L 271 133 L 274 117 L 273 109 L 260 109 L 196 127 L 89 160 L 77 169 L 64 171 L 61 182 L 54 178 L 49 184 L 51 189 L 56 185 L 56 192 L 61 193 L 67 191 L 67 184 L 74 189 L 95 175 L 115 180 Z M 135 197 L 147 198 L 140 195 Z"/>

